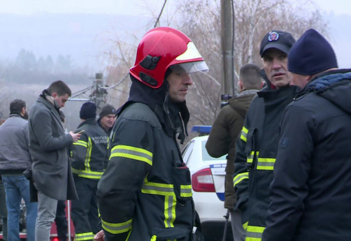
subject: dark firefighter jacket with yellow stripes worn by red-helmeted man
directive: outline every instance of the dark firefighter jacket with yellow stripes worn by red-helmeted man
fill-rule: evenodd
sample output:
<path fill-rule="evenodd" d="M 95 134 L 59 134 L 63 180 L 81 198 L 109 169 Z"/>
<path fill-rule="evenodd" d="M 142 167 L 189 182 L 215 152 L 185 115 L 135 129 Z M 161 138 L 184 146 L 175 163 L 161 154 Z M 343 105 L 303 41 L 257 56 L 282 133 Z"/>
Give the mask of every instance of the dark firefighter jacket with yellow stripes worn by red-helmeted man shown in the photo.
<path fill-rule="evenodd" d="M 191 238 L 195 216 L 190 172 L 169 122 L 178 118 L 169 116 L 167 101 L 160 101 L 164 95 L 164 90 L 151 91 L 134 80 L 129 101 L 119 111 L 97 192 L 107 240 Z M 186 116 L 185 125 L 189 112 Z"/>

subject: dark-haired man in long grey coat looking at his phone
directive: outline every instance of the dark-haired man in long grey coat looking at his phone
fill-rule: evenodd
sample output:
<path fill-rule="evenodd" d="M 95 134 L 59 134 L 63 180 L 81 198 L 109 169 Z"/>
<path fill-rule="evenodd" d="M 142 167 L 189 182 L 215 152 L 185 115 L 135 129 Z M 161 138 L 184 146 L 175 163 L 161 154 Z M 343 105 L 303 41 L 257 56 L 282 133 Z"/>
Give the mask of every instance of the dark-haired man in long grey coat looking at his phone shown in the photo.
<path fill-rule="evenodd" d="M 65 82 L 58 80 L 45 89 L 32 107 L 29 118 L 29 150 L 34 185 L 38 189 L 35 239 L 48 241 L 58 200 L 77 199 L 67 147 L 80 138 L 65 134 L 60 108 L 71 96 Z"/>

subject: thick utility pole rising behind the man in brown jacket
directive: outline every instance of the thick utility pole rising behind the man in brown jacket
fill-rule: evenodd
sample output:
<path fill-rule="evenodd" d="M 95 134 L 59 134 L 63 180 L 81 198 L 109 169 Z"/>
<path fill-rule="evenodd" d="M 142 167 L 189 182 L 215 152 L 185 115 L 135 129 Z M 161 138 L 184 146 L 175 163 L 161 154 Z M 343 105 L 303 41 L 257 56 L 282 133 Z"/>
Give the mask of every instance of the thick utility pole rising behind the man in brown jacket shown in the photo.
<path fill-rule="evenodd" d="M 231 96 L 234 96 L 233 14 L 231 0 L 221 0 L 222 91 Z"/>

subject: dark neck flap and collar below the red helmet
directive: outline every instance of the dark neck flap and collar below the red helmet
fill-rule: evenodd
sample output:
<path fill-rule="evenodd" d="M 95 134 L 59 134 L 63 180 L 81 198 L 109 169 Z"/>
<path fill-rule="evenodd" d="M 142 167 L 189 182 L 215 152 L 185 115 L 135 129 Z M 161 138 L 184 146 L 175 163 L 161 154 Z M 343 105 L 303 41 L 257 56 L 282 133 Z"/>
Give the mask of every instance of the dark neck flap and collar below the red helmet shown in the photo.
<path fill-rule="evenodd" d="M 190 118 L 186 102 L 172 103 L 169 101 L 167 94 L 169 85 L 167 81 L 163 81 L 163 84 L 158 89 L 153 89 L 140 83 L 131 75 L 130 79 L 132 84 L 128 101 L 117 110 L 116 115 L 118 116 L 131 103 L 143 103 L 156 114 L 162 128 L 169 137 L 173 137 L 179 132 L 178 138 L 183 142 L 185 139 L 184 134 L 188 135 L 187 124 Z M 173 113 L 177 114 L 172 117 Z M 174 117 L 175 119 L 172 119 Z M 182 123 L 181 128 L 179 127 L 179 121 Z"/>

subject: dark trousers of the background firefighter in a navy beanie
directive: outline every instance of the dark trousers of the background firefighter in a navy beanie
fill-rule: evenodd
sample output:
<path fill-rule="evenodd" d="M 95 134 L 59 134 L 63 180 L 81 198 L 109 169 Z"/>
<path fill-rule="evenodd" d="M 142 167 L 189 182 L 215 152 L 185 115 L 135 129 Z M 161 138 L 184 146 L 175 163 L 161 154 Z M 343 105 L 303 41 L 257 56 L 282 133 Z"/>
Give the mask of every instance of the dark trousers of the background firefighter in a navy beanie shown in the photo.
<path fill-rule="evenodd" d="M 78 194 L 78 200 L 72 200 L 72 220 L 76 233 L 76 240 L 93 240 L 98 228 L 98 210 L 96 191 L 96 179 L 74 176 L 74 183 Z"/>

